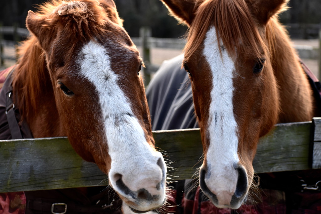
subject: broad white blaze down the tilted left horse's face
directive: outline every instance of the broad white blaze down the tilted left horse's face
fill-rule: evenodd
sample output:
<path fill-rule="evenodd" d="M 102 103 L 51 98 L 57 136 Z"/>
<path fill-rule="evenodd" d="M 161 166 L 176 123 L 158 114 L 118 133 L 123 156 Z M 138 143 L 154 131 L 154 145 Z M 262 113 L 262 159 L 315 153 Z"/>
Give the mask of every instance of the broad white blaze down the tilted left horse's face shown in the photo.
<path fill-rule="evenodd" d="M 151 189 L 157 184 L 158 189 L 164 190 L 163 184 L 159 183 L 164 180 L 166 169 L 157 164 L 159 159 L 164 162 L 163 157 L 147 143 L 128 98 L 117 85 L 118 77 L 112 70 L 106 49 L 90 41 L 82 48 L 80 56 L 81 74 L 93 83 L 99 97 L 108 142 L 108 151 L 101 152 L 108 152 L 111 158 L 109 182 L 117 190 L 116 180 L 121 175 L 131 191 L 145 188 L 154 195 L 157 191 Z M 118 192 L 122 193 L 122 190 Z"/>

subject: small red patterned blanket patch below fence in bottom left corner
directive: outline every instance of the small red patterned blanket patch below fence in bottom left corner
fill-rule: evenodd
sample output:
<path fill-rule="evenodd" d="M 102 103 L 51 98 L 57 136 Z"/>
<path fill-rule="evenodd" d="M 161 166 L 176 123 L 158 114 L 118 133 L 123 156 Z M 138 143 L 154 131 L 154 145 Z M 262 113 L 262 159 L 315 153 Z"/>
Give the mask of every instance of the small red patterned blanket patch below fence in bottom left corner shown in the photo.
<path fill-rule="evenodd" d="M 0 214 L 24 214 L 26 196 L 23 192 L 0 193 Z"/>

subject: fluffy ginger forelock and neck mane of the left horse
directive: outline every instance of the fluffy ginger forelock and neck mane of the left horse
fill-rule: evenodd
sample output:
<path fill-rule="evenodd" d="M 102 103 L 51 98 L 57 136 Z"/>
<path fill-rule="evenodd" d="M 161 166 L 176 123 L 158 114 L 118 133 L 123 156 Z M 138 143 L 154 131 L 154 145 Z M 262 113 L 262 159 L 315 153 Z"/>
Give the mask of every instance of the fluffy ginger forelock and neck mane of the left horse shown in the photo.
<path fill-rule="evenodd" d="M 114 30 L 115 25 L 123 27 L 123 21 L 119 18 L 116 7 L 113 6 L 114 2 L 110 1 L 112 3 L 109 3 L 108 1 L 52 0 L 38 5 L 36 14 L 40 18 L 45 18 L 42 27 L 48 30 L 68 32 L 71 48 L 64 54 L 66 57 L 72 57 L 77 42 L 105 35 Z M 56 35 L 50 34 L 50 36 L 49 39 L 54 39 Z M 44 90 L 51 90 L 53 93 L 53 89 L 49 78 L 46 54 L 35 35 L 31 35 L 20 44 L 18 55 L 18 65 L 13 73 L 13 92 L 14 102 L 20 110 L 22 120 L 29 118 L 37 111 L 37 100 L 42 99 L 41 95 L 46 93 Z"/>

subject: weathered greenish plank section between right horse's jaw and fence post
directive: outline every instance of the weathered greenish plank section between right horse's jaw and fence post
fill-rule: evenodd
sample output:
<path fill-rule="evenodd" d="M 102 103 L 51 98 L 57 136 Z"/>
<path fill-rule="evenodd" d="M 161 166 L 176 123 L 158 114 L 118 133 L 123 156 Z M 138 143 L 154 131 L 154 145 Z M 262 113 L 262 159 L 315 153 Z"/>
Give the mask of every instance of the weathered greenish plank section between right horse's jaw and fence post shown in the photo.
<path fill-rule="evenodd" d="M 312 122 L 277 124 L 260 139 L 253 167 L 256 173 L 310 169 Z"/>

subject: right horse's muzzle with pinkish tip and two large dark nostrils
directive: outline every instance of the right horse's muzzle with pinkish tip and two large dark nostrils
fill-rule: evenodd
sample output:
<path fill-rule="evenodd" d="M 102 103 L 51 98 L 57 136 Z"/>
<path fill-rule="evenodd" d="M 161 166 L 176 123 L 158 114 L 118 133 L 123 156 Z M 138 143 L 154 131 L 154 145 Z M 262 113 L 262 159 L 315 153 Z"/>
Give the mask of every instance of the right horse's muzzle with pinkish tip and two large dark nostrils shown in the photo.
<path fill-rule="evenodd" d="M 213 204 L 218 208 L 232 208 L 237 209 L 241 206 L 244 198 L 247 194 L 247 173 L 244 167 L 239 164 L 234 164 L 233 168 L 236 172 L 237 179 L 235 183 L 230 183 L 230 180 L 220 183 L 215 181 L 220 181 L 223 179 L 210 179 L 210 176 L 215 176 L 214 172 L 207 172 L 206 167 L 202 167 L 200 171 L 200 187 L 205 195 L 213 202 Z M 233 176 L 233 175 L 231 175 Z M 209 183 L 212 181 L 213 183 Z M 211 190 L 209 188 L 211 187 Z"/>

